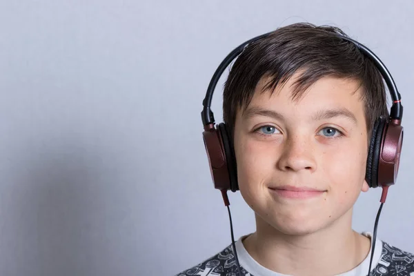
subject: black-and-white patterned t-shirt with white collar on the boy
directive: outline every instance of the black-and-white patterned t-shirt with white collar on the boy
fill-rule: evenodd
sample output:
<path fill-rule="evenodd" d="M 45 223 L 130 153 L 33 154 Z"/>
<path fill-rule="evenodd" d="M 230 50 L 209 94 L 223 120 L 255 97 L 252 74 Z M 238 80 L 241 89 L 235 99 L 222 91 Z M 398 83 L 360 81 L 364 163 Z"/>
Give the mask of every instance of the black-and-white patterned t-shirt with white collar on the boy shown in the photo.
<path fill-rule="evenodd" d="M 363 233 L 371 238 L 369 233 Z M 237 256 L 242 270 L 242 276 L 286 276 L 268 270 L 258 264 L 251 257 L 242 243 L 243 237 L 236 242 Z M 365 276 L 369 269 L 371 250 L 366 259 L 356 268 L 340 276 Z M 184 270 L 176 276 L 238 276 L 237 264 L 231 244 L 220 253 L 206 259 L 206 261 Z M 414 255 L 399 248 L 395 248 L 377 239 L 370 276 L 414 276 Z"/>

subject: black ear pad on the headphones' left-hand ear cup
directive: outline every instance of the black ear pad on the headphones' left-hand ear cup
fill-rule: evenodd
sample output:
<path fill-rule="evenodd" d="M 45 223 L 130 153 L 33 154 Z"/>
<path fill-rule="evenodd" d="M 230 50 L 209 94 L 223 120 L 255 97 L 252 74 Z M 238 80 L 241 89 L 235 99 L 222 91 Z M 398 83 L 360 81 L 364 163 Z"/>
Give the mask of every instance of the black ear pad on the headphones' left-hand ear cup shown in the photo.
<path fill-rule="evenodd" d="M 221 134 L 224 152 L 226 154 L 228 177 L 230 178 L 230 190 L 236 192 L 237 190 L 239 190 L 239 185 L 237 183 L 236 158 L 233 143 L 232 141 L 230 141 L 230 131 L 228 129 L 228 126 L 224 123 L 219 124 L 218 129 Z"/>

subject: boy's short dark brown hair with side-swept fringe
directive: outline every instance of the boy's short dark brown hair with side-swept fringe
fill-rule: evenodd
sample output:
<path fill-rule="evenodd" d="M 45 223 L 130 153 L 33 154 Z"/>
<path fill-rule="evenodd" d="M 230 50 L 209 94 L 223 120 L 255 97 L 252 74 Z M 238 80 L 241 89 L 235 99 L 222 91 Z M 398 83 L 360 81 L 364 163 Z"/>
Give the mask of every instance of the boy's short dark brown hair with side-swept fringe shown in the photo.
<path fill-rule="evenodd" d="M 273 91 L 300 70 L 293 100 L 322 77 L 355 79 L 362 86 L 368 139 L 377 117 L 388 117 L 386 92 L 380 72 L 371 60 L 333 26 L 295 23 L 279 28 L 269 36 L 250 43 L 237 57 L 224 85 L 223 116 L 233 136 L 237 110 L 250 103 L 257 83 L 268 77 L 263 91 Z"/>

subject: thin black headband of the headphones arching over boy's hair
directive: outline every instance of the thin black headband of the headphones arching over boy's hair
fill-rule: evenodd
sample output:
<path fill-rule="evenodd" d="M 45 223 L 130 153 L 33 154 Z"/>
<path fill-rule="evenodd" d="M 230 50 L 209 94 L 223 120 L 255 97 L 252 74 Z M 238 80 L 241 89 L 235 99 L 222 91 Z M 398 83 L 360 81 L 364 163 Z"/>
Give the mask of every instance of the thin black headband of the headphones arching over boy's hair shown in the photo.
<path fill-rule="evenodd" d="M 268 37 L 268 35 L 270 35 L 271 33 L 272 32 L 268 32 L 266 34 L 259 35 L 257 37 L 254 37 L 253 39 L 250 39 L 240 44 L 237 48 L 235 48 L 232 52 L 230 52 L 230 54 L 228 54 L 227 57 L 223 61 L 221 61 L 219 67 L 217 68 L 217 70 L 215 71 L 213 75 L 213 78 L 210 80 L 210 83 L 208 84 L 206 97 L 203 100 L 204 108 L 203 108 L 203 111 L 201 111 L 201 120 L 203 121 L 203 126 L 208 126 L 209 124 L 215 123 L 214 114 L 210 108 L 211 99 L 213 99 L 213 92 L 224 70 L 226 70 L 226 68 L 230 65 L 230 63 L 243 52 L 244 48 L 246 48 L 248 44 L 258 41 L 259 39 L 262 39 L 264 37 Z M 381 59 L 377 57 L 371 50 L 369 50 L 366 46 L 362 45 L 361 43 L 349 37 L 344 37 L 342 34 L 335 33 L 335 35 L 341 39 L 344 39 L 346 41 L 349 41 L 355 44 L 355 46 L 357 46 L 357 48 L 361 50 L 361 52 L 363 52 L 366 57 L 368 57 L 369 59 L 371 59 L 371 61 L 373 61 L 375 67 L 380 71 L 382 77 L 384 78 L 386 85 L 388 87 L 388 91 L 391 95 L 391 99 L 393 99 L 393 105 L 391 106 L 390 117 L 391 119 L 395 119 L 401 122 L 402 113 L 403 113 L 403 108 L 401 104 L 401 95 L 400 95 L 400 92 L 398 92 L 397 90 L 397 86 L 395 85 L 395 81 L 393 77 L 391 76 L 390 72 L 388 71 L 384 63 L 381 61 Z"/>

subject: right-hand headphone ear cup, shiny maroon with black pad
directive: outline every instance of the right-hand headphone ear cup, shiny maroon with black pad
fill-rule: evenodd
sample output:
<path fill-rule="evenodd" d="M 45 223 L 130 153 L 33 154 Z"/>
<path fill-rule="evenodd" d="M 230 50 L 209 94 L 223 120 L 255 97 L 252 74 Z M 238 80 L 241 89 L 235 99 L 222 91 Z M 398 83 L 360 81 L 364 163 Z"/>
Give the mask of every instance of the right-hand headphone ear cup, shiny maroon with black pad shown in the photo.
<path fill-rule="evenodd" d="M 371 188 L 395 184 L 400 165 L 403 128 L 400 121 L 375 121 L 366 161 L 366 182 Z"/>

